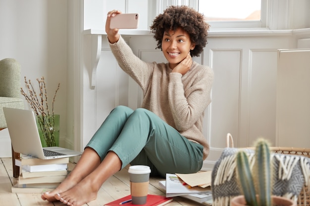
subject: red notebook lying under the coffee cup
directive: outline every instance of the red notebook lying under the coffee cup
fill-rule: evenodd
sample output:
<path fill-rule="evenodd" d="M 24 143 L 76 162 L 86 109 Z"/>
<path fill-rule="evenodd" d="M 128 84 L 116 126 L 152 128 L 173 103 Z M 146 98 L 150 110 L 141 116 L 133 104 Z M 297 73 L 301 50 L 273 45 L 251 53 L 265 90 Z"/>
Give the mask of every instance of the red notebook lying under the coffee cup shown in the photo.
<path fill-rule="evenodd" d="M 148 195 L 147 203 L 144 205 L 134 205 L 131 202 L 119 205 L 120 203 L 125 202 L 130 199 L 131 199 L 131 195 L 128 195 L 118 200 L 114 200 L 110 203 L 106 203 L 104 206 L 164 206 L 173 201 L 172 198 L 166 198 L 165 196 Z"/>

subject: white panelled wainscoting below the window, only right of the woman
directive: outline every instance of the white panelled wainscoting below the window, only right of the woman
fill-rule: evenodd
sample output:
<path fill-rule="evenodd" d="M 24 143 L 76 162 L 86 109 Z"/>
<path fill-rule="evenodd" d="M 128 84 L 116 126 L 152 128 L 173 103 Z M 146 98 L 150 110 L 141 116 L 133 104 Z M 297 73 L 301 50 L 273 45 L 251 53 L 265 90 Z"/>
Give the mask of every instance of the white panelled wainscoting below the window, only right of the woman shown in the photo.
<path fill-rule="evenodd" d="M 259 136 L 275 145 L 276 48 L 293 46 L 289 39 L 209 38 L 204 64 L 213 68 L 215 79 L 204 124 L 210 144 L 204 169 L 212 168 L 227 146 L 228 132 L 235 147 L 251 146 Z"/>

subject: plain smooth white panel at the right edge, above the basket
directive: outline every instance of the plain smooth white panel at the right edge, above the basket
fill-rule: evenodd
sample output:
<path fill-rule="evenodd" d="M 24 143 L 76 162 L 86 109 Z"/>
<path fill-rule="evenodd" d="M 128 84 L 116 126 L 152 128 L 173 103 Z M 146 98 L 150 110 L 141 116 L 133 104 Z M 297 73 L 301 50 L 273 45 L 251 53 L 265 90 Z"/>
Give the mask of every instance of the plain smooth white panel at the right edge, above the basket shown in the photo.
<path fill-rule="evenodd" d="M 310 49 L 279 50 L 276 143 L 310 148 Z"/>

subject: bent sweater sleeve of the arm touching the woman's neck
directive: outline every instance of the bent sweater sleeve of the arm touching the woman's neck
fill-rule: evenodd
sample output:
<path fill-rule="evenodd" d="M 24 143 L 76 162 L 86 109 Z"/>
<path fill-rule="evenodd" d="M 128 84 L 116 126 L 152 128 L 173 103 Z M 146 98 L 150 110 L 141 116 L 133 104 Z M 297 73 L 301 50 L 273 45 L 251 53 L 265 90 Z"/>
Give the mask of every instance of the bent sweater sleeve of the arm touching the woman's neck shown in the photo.
<path fill-rule="evenodd" d="M 213 71 L 208 67 L 200 67 L 194 75 L 182 77 L 179 73 L 170 73 L 168 88 L 169 104 L 173 120 L 179 131 L 185 131 L 199 122 L 204 111 L 211 102 Z M 186 85 L 182 78 L 191 79 Z"/>

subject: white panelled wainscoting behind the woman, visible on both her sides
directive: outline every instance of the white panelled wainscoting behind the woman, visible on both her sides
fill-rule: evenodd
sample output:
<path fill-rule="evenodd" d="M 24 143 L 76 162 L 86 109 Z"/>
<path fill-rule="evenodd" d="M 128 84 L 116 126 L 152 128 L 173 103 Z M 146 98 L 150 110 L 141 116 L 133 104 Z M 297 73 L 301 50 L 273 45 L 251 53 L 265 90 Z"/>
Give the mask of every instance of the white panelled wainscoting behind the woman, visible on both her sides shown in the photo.
<path fill-rule="evenodd" d="M 152 35 L 124 34 L 123 37 L 141 59 L 166 61 L 160 49 L 155 49 Z M 273 146 L 281 146 L 276 142 L 277 49 L 296 45 L 296 37 L 287 31 L 229 35 L 210 32 L 203 54 L 194 58 L 200 64 L 209 65 L 215 77 L 212 102 L 204 119 L 203 132 L 210 153 L 203 169 L 211 169 L 218 160 L 226 147 L 228 132 L 233 135 L 235 147 L 252 146 L 259 136 L 269 139 Z M 85 85 L 90 88 L 88 83 Z M 141 103 L 141 90 L 120 70 L 105 35 L 95 91 L 84 89 L 84 92 L 84 143 L 114 106 L 127 104 L 135 109 Z"/>

